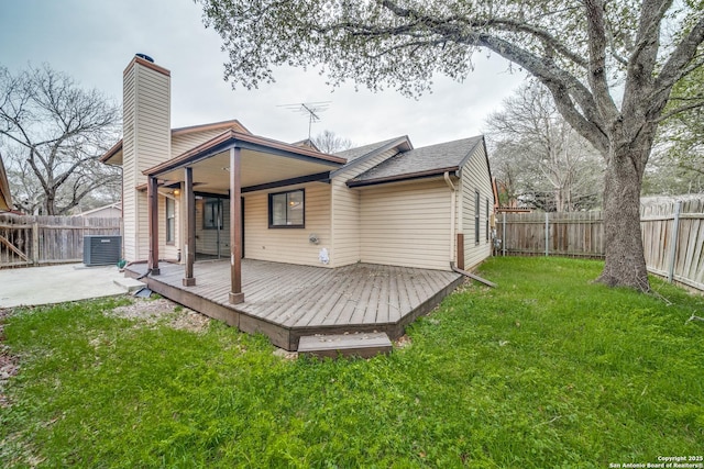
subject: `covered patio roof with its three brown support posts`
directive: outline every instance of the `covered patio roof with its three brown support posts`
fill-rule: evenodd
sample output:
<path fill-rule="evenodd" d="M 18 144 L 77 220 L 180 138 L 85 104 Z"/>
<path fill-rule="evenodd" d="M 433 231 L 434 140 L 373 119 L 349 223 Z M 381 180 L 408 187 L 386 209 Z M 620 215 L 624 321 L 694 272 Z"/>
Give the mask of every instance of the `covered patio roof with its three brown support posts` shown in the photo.
<path fill-rule="evenodd" d="M 143 171 L 147 176 L 150 255 L 147 271 L 158 276 L 160 186 L 180 186 L 186 211 L 186 266 L 184 287 L 195 287 L 196 246 L 195 193 L 222 194 L 230 199 L 230 294 L 231 303 L 244 301 L 242 292 L 241 194 L 253 190 L 329 181 L 330 171 L 346 163 L 309 147 L 289 145 L 252 134 L 228 130 L 193 149 Z"/>

